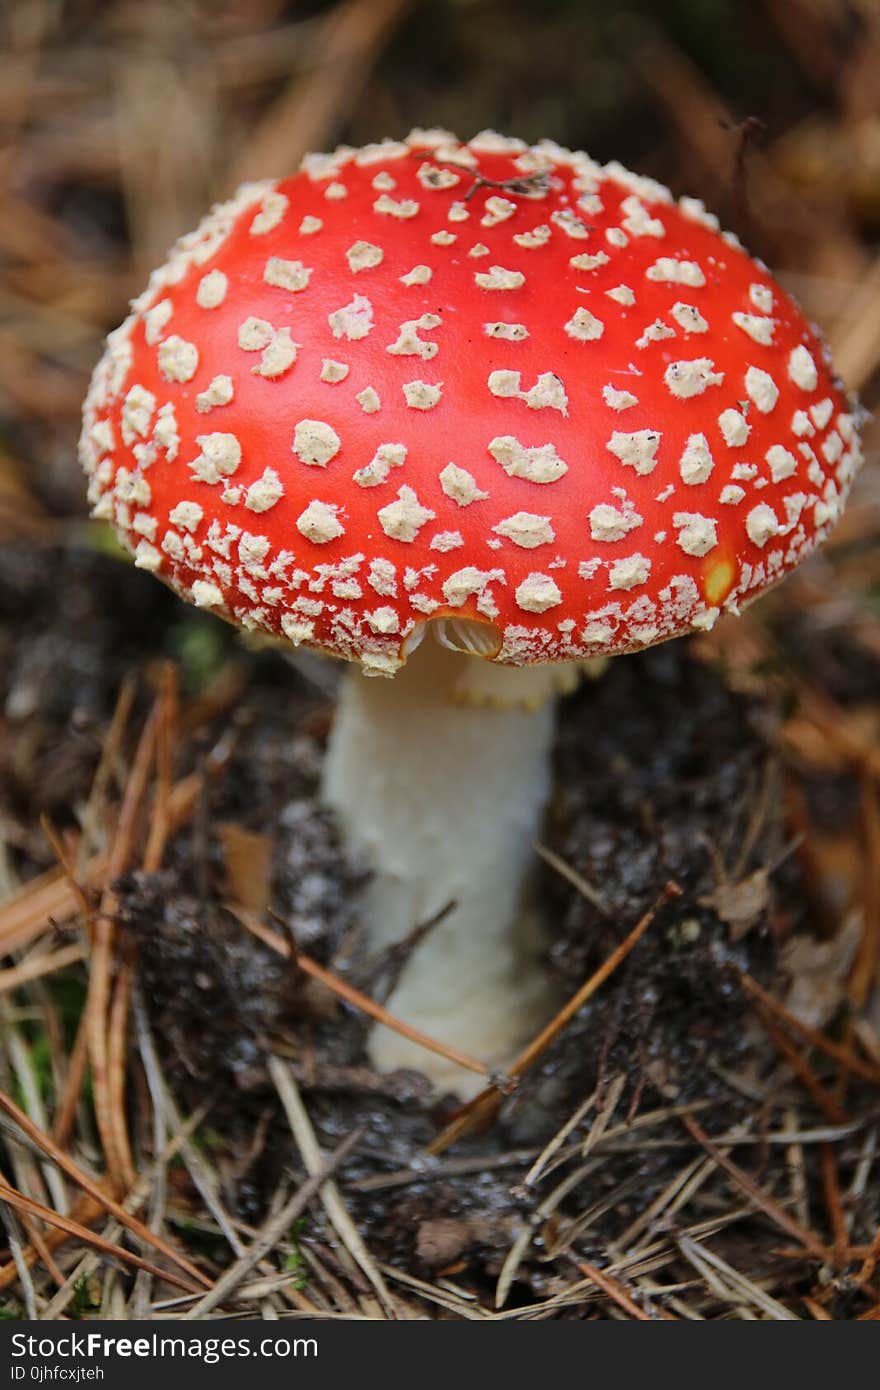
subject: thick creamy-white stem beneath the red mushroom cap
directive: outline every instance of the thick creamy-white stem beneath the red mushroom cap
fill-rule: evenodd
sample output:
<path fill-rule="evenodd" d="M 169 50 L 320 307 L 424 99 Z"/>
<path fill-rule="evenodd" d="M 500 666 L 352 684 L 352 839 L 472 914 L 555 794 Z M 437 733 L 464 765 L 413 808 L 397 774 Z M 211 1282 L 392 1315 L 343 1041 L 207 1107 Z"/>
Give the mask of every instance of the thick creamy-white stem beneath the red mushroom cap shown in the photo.
<path fill-rule="evenodd" d="M 484 674 L 480 657 L 428 635 L 392 681 L 350 671 L 324 799 L 373 869 L 363 902 L 370 952 L 455 902 L 409 956 L 391 1012 L 503 1066 L 552 1012 L 528 881 L 549 790 L 553 699 L 546 671 L 535 670 L 531 708 L 521 681 L 516 706 L 466 702 L 462 684 L 474 667 Z M 500 694 L 506 673 L 492 670 Z M 373 1030 L 368 1051 L 381 1070 L 416 1068 L 473 1094 L 473 1076 L 388 1029 Z"/>

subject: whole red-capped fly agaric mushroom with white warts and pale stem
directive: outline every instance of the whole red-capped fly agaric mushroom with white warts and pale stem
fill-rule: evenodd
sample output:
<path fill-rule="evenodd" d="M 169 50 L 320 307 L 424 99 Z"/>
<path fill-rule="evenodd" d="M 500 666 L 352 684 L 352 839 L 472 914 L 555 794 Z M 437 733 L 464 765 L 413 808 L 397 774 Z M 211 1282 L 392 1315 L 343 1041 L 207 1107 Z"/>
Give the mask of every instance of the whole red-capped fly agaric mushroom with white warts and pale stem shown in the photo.
<path fill-rule="evenodd" d="M 355 663 L 324 791 L 374 869 L 368 945 L 455 901 L 391 1008 L 503 1062 L 548 1006 L 549 696 L 822 542 L 855 407 L 699 202 L 494 132 L 247 185 L 132 309 L 85 407 L 93 516 L 200 607 Z"/>

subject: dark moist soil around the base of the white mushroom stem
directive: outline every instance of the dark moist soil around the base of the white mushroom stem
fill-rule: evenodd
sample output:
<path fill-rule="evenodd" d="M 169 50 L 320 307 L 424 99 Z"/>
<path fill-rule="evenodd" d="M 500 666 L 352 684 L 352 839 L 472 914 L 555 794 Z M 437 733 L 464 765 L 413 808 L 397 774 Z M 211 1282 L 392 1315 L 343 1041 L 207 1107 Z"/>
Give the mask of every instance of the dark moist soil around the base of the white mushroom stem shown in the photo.
<path fill-rule="evenodd" d="M 118 885 L 168 1080 L 185 1109 L 210 1102 L 213 1134 L 238 1155 L 224 1195 L 242 1218 L 257 1219 L 296 1166 L 266 1072 L 270 1049 L 293 1059 L 323 1144 L 363 1127 L 345 1187 L 373 1254 L 424 1275 L 467 1268 L 477 1286 L 498 1273 L 535 1201 L 514 1186 L 523 1162 L 510 1166 L 505 1155 L 537 1152 L 595 1087 L 599 1102 L 620 1087 L 617 1122 L 699 1101 L 706 1127 L 723 1131 L 753 1108 L 748 1079 L 767 1070 L 767 1044 L 737 969 L 773 980 L 780 944 L 809 927 L 809 903 L 795 859 L 785 858 L 774 710 L 734 695 L 687 641 L 613 662 L 560 706 L 544 842 L 601 898 L 595 906 L 542 869 L 548 963 L 560 987 L 574 992 L 667 881 L 680 897 L 505 1101 L 494 1129 L 425 1161 L 450 1098 L 412 1073 L 375 1076 L 363 1017 L 257 942 L 225 906 L 224 827 L 234 826 L 268 847 L 275 929 L 363 983 L 363 869 L 346 860 L 316 799 L 327 696 L 278 655 L 245 653 L 149 577 L 88 550 L 0 552 L 0 815 L 25 874 L 50 862 L 33 830 L 39 812 L 70 820 L 88 794 L 124 673 L 146 669 L 145 699 L 160 655 L 182 662 L 184 687 L 195 694 L 228 662 L 247 666 L 235 706 L 178 751 L 185 771 L 234 731 L 224 776 L 174 840 L 163 872 Z M 594 1236 L 606 1248 L 678 1172 L 680 1123 L 669 1119 L 651 1134 L 667 1147 L 620 1152 L 573 1182 L 559 1213 L 609 1200 L 581 1251 Z M 413 1162 L 406 1180 L 380 1186 Z M 456 1172 L 462 1162 L 467 1170 Z M 306 1238 L 321 1234 L 316 1213 Z M 552 1291 L 556 1276 L 532 1252 L 520 1277 L 521 1297 L 531 1297 Z"/>

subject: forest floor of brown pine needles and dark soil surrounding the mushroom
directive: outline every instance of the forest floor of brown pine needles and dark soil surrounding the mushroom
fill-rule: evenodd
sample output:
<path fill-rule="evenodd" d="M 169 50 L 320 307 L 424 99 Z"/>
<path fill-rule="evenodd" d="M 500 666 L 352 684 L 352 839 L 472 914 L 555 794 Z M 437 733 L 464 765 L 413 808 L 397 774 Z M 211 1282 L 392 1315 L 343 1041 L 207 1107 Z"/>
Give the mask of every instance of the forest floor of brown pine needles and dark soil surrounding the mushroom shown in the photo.
<path fill-rule="evenodd" d="M 424 124 L 538 135 L 539 115 L 570 143 L 619 125 L 626 147 L 596 153 L 717 195 L 876 404 L 880 26 L 823 44 L 787 28 L 799 6 L 749 6 L 737 106 L 645 7 L 606 32 L 520 4 L 514 38 L 510 6 L 253 0 L 207 38 L 197 7 L 175 21 L 213 44 L 184 95 L 156 19 L 184 7 L 143 7 L 154 31 L 125 4 L 24 8 L 44 22 L 0 85 L 1 1314 L 877 1319 L 876 424 L 820 556 L 562 703 L 539 894 L 582 1002 L 464 1108 L 364 1052 L 399 962 L 364 958 L 363 867 L 317 799 L 335 670 L 132 570 L 85 521 L 74 453 L 101 331 L 222 192 L 218 95 L 253 174 L 373 138 L 370 113 L 398 133 L 420 103 Z M 552 104 L 578 22 L 592 110 Z M 762 44 L 772 129 L 740 183 Z M 192 117 L 174 147 L 163 90 Z"/>

